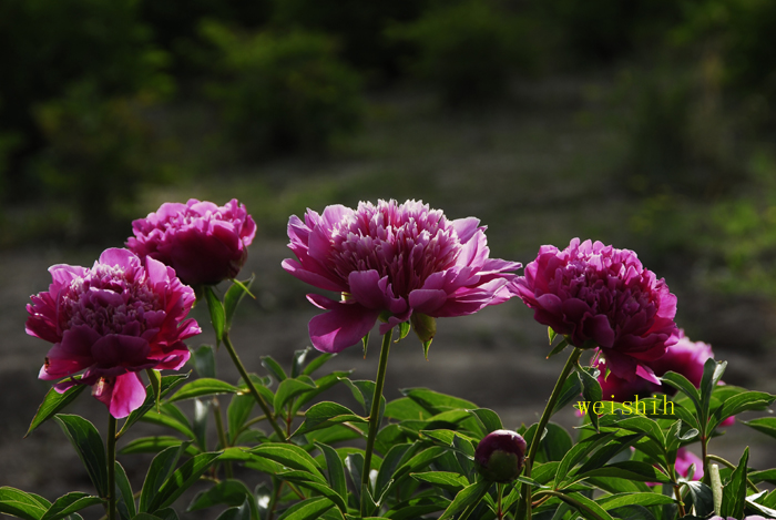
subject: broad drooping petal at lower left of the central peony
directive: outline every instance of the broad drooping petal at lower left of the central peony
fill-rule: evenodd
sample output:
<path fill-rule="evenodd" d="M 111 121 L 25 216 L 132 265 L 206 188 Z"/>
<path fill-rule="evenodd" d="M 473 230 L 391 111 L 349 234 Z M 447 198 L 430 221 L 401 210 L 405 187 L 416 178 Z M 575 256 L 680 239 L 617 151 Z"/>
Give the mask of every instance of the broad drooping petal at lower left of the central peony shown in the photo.
<path fill-rule="evenodd" d="M 339 353 L 366 336 L 379 314 L 359 304 L 340 303 L 333 310 L 310 319 L 313 346 L 325 353 Z"/>

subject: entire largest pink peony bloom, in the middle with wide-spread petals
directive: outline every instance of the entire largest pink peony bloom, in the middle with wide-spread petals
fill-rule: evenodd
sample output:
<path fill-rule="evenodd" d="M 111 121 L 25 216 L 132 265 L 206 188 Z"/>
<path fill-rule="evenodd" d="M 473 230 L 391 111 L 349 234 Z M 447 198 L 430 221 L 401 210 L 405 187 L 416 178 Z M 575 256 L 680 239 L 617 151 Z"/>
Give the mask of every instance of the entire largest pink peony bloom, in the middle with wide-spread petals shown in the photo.
<path fill-rule="evenodd" d="M 412 317 L 422 340 L 433 325 L 427 318 L 472 314 L 513 295 L 507 285 L 514 262 L 488 258 L 484 227 L 469 217 L 448 221 L 421 202 L 359 203 L 357 210 L 308 210 L 303 222 L 288 221 L 288 247 L 297 261 L 283 268 L 303 282 L 343 293 L 341 300 L 310 294 L 328 313 L 309 323 L 313 345 L 337 353 L 355 345 L 378 317 L 380 334 Z"/>

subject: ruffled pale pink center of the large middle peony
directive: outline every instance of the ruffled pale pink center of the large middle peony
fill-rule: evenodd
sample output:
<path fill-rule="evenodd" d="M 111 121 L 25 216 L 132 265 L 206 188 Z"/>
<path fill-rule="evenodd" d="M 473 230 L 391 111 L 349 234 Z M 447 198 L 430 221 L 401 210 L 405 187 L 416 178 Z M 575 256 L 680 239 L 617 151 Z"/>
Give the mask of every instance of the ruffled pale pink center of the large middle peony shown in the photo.
<path fill-rule="evenodd" d="M 375 269 L 404 297 L 453 266 L 461 251 L 442 212 L 418 202 L 360 203 L 333 226 L 330 239 L 333 269 L 343 281 L 353 272 Z"/>

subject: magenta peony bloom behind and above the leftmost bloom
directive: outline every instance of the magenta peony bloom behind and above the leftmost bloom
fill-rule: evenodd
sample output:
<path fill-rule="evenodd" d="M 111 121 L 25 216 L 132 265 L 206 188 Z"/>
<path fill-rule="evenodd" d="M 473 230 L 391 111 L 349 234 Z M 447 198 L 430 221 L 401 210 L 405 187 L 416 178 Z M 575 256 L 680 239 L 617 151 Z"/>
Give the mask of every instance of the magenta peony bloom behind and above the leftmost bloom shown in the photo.
<path fill-rule="evenodd" d="M 256 224 L 236 198 L 224 206 L 190 200 L 165 202 L 132 223 L 126 246 L 175 269 L 188 285 L 215 285 L 237 276 L 256 236 Z"/>

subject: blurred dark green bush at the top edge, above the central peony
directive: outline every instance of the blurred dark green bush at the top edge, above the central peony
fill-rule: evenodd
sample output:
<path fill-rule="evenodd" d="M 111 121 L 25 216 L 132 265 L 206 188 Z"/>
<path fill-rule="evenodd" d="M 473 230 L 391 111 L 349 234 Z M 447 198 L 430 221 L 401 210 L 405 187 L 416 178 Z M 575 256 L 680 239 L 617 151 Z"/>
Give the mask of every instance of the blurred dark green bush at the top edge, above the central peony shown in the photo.
<path fill-rule="evenodd" d="M 440 4 L 389 34 L 417 48 L 409 70 L 448 105 L 503 96 L 527 68 L 527 21 L 482 0 Z"/>

